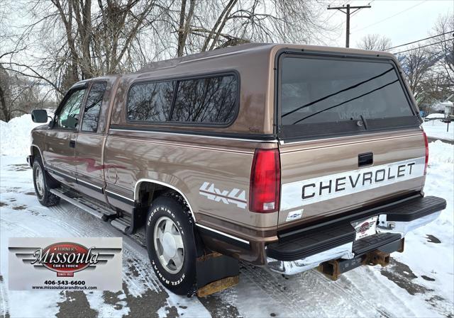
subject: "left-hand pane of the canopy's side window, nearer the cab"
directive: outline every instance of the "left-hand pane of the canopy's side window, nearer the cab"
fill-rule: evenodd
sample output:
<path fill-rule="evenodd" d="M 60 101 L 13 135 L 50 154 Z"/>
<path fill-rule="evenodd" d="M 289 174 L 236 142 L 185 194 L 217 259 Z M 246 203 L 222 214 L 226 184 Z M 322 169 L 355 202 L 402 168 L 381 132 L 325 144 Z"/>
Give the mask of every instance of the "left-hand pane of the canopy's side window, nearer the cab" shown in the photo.
<path fill-rule="evenodd" d="M 128 93 L 128 120 L 165 122 L 172 108 L 175 81 L 140 83 Z"/>

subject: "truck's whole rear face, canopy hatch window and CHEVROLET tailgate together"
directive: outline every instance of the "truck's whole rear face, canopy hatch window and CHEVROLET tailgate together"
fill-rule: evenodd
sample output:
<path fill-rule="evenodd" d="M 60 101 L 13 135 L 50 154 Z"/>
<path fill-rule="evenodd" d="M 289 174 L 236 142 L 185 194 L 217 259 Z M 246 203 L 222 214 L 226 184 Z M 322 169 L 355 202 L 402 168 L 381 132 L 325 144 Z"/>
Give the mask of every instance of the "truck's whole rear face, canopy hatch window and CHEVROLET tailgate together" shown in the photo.
<path fill-rule="evenodd" d="M 426 147 L 392 57 L 278 57 L 279 229 L 420 191 Z"/>

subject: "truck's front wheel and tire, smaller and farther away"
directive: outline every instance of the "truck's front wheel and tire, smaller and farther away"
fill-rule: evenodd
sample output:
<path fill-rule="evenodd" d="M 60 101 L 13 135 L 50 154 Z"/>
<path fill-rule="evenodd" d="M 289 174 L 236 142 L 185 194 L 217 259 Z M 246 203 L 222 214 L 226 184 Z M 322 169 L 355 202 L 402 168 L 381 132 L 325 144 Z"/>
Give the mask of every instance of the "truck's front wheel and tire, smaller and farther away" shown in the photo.
<path fill-rule="evenodd" d="M 50 193 L 50 188 L 55 188 L 55 183 L 56 181 L 45 172 L 41 158 L 35 157 L 33 160 L 33 186 L 35 186 L 36 197 L 41 205 L 50 207 L 60 203 L 60 198 Z"/>

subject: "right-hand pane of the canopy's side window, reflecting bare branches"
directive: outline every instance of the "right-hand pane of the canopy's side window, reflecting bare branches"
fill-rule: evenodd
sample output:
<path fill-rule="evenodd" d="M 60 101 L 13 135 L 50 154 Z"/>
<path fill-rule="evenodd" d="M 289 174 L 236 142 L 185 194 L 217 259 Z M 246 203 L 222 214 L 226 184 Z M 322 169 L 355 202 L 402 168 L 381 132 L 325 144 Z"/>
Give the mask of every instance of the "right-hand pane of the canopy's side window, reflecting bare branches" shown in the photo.
<path fill-rule="evenodd" d="M 179 81 L 171 121 L 230 123 L 236 115 L 237 89 L 233 75 Z"/>

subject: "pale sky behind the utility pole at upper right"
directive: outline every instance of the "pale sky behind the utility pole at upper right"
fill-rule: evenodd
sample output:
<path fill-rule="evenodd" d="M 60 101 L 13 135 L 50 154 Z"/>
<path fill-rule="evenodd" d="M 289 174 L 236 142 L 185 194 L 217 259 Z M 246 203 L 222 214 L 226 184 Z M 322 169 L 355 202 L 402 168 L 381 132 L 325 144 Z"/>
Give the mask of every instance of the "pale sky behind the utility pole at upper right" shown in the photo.
<path fill-rule="evenodd" d="M 454 13 L 454 0 L 331 1 L 331 6 L 372 6 L 350 17 L 350 47 L 356 47 L 356 43 L 367 34 L 384 35 L 392 40 L 392 46 L 427 38 L 438 16 Z M 334 25 L 342 23 L 338 26 L 342 34 L 330 44 L 345 46 L 345 14 L 338 10 L 329 10 L 328 14 L 333 14 Z"/>

